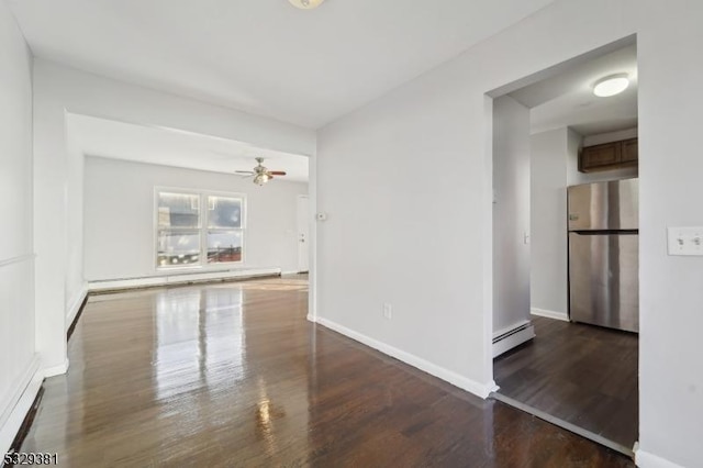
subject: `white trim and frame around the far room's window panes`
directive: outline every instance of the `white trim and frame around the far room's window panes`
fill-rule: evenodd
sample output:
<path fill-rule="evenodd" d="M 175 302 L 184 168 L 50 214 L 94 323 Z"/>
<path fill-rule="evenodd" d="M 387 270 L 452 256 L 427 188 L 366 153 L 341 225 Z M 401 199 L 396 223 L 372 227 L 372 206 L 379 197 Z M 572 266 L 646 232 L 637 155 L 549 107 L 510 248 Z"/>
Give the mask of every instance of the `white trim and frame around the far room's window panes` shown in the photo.
<path fill-rule="evenodd" d="M 183 227 L 183 231 L 198 231 L 200 234 L 200 263 L 191 265 L 158 265 L 158 232 L 164 227 L 158 225 L 158 196 L 161 192 L 178 193 L 178 194 L 194 194 L 199 197 L 199 226 L 198 227 Z M 242 232 L 242 259 L 239 261 L 220 261 L 216 264 L 208 263 L 208 213 L 209 203 L 208 197 L 226 197 L 237 198 L 242 200 L 242 222 L 239 227 L 219 229 L 213 227 L 214 231 L 241 231 Z M 227 192 L 223 190 L 199 190 L 192 188 L 179 188 L 168 186 L 155 186 L 153 193 L 153 207 L 152 207 L 152 261 L 155 271 L 187 271 L 187 270 L 227 270 L 233 266 L 243 267 L 246 265 L 246 245 L 247 245 L 247 194 L 243 192 Z M 203 214 L 204 213 L 204 214 Z M 169 227 L 166 227 L 169 230 Z M 178 230 L 178 229 L 177 229 Z"/>

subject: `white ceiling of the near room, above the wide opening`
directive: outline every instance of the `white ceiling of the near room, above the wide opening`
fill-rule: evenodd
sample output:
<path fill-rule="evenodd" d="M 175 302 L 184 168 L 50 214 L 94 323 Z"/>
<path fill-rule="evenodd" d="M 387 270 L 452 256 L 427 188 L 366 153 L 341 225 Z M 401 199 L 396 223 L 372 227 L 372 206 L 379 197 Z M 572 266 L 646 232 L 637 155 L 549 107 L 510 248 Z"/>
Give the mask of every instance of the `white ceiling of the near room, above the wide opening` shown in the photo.
<path fill-rule="evenodd" d="M 320 127 L 554 0 L 5 0 L 33 53 Z"/>

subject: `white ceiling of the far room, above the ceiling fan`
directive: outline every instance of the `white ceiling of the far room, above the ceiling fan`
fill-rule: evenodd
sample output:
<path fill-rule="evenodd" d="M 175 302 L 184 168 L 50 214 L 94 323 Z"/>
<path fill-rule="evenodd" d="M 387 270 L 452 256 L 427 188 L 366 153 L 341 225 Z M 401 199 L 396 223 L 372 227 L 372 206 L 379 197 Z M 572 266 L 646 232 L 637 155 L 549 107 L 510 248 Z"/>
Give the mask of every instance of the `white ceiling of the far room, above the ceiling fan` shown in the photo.
<path fill-rule="evenodd" d="M 88 156 L 225 174 L 252 170 L 254 158 L 261 156 L 267 168 L 288 172 L 276 180 L 308 181 L 308 157 L 232 140 L 79 114 L 69 114 L 68 131 L 71 143 Z"/>

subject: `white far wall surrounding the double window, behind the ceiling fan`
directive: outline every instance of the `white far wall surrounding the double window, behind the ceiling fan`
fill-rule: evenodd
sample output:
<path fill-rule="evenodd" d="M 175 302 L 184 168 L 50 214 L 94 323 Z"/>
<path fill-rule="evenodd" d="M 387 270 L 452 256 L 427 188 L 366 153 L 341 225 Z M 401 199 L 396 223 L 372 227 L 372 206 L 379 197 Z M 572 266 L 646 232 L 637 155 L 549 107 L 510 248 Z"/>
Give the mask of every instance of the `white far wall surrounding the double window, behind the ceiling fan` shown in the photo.
<path fill-rule="evenodd" d="M 297 199 L 308 183 L 276 179 L 258 187 L 234 175 L 98 157 L 86 158 L 85 174 L 88 281 L 165 275 L 155 267 L 155 187 L 246 194 L 245 263 L 214 269 L 298 270 Z"/>

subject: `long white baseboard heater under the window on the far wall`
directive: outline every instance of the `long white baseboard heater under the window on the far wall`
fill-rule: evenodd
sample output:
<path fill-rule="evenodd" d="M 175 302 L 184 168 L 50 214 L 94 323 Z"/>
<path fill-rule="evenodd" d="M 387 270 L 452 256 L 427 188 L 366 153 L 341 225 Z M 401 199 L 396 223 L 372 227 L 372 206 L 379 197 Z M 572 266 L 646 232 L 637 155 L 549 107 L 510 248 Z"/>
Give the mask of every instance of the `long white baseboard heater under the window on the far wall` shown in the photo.
<path fill-rule="evenodd" d="M 255 278 L 258 276 L 280 275 L 280 268 L 252 268 L 242 270 L 187 272 L 143 278 L 120 278 L 88 282 L 89 291 L 110 291 L 115 289 L 145 288 L 150 286 L 183 285 L 196 281 L 209 281 L 230 278 Z"/>

